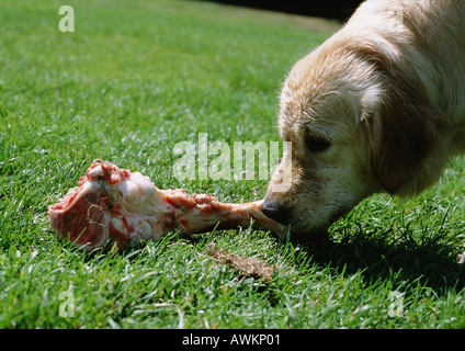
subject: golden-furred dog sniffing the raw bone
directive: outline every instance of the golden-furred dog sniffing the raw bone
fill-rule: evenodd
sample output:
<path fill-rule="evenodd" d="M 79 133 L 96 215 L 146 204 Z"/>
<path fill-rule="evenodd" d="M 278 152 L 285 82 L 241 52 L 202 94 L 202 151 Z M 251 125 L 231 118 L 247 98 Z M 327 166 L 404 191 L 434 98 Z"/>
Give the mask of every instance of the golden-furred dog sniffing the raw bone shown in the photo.
<path fill-rule="evenodd" d="M 288 72 L 279 131 L 292 147 L 262 211 L 293 235 L 326 233 L 371 194 L 432 185 L 465 150 L 465 1 L 363 2 Z"/>

